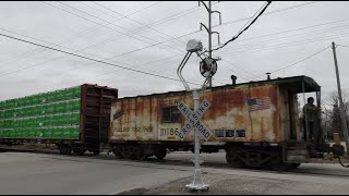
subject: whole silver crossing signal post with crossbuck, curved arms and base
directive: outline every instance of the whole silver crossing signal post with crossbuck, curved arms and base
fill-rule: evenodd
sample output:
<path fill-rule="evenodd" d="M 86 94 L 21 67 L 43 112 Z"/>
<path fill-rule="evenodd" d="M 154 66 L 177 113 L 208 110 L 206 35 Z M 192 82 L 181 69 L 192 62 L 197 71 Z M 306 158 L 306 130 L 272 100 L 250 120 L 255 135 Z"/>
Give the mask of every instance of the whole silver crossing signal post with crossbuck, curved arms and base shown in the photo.
<path fill-rule="evenodd" d="M 189 85 L 184 81 L 183 76 L 181 75 L 181 72 L 189 60 L 192 52 L 196 52 L 196 54 L 200 57 L 198 51 L 202 50 L 202 44 L 201 41 L 197 41 L 195 39 L 189 40 L 186 44 L 186 51 L 184 59 L 182 60 L 181 64 L 179 65 L 177 70 L 177 74 L 181 82 L 183 83 L 185 89 L 190 91 Z M 200 57 L 201 58 L 201 57 Z M 210 63 L 206 64 L 209 68 L 208 73 L 213 72 L 213 65 Z M 217 68 L 217 66 L 216 66 Z M 205 70 L 206 71 L 206 70 Z M 208 78 L 208 77 L 207 77 Z M 206 81 L 207 81 L 206 78 Z M 204 82 L 204 84 L 206 83 Z M 204 85 L 203 85 L 204 86 Z M 200 160 L 200 140 L 198 140 L 198 134 L 201 134 L 206 140 L 208 140 L 210 136 L 209 130 L 200 121 L 200 119 L 203 117 L 203 114 L 206 112 L 206 110 L 209 108 L 210 103 L 205 99 L 202 105 L 198 106 L 198 93 L 197 89 L 193 89 L 193 100 L 194 100 L 194 111 L 192 111 L 184 102 L 181 102 L 178 105 L 178 109 L 180 112 L 186 118 L 186 122 L 184 126 L 182 127 L 181 132 L 178 134 L 181 140 L 185 138 L 185 136 L 194 128 L 194 152 L 195 158 L 193 160 L 195 164 L 194 169 L 194 180 L 192 183 L 186 184 L 185 187 L 191 189 L 208 189 L 209 185 L 204 184 L 201 176 L 201 169 L 200 164 L 202 161 Z"/>

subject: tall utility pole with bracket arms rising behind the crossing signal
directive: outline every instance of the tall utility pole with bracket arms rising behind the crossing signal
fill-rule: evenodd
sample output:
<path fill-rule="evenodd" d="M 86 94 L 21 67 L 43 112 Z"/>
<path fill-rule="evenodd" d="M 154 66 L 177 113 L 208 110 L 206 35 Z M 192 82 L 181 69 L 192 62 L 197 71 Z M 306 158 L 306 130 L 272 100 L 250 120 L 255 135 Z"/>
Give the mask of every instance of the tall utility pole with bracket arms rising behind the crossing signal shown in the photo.
<path fill-rule="evenodd" d="M 200 3 L 203 3 L 208 12 L 208 27 L 204 25 L 203 23 L 200 23 L 200 30 L 202 30 L 202 26 L 205 27 L 208 34 L 208 57 L 212 59 L 212 34 L 218 34 L 218 45 L 220 45 L 219 41 L 219 33 L 218 32 L 212 32 L 212 13 L 219 13 L 219 24 L 221 24 L 221 13 L 219 11 L 212 11 L 210 9 L 210 1 L 208 1 L 208 7 L 204 1 L 198 1 L 198 7 Z M 212 87 L 212 75 L 208 76 L 208 86 Z"/>

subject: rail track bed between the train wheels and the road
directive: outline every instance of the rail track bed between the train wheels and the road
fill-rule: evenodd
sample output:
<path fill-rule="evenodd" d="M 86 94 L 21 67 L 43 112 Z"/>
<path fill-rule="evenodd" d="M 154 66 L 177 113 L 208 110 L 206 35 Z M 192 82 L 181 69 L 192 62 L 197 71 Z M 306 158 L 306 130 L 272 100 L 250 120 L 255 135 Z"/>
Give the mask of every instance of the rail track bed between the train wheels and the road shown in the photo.
<path fill-rule="evenodd" d="M 124 166 L 135 166 L 144 168 L 158 168 L 158 169 L 171 169 L 169 167 L 177 167 L 173 170 L 188 170 L 189 167 L 193 167 L 190 159 L 193 158 L 191 152 L 171 152 L 164 160 L 158 160 L 156 157 L 149 157 L 145 161 L 130 160 L 130 159 L 116 159 L 113 154 L 101 154 L 99 156 L 94 156 L 93 154 L 86 154 L 84 156 L 73 156 L 73 155 L 60 155 L 58 150 L 48 149 L 21 149 L 13 147 L 0 147 L 0 152 L 31 152 L 44 155 L 44 158 L 51 160 L 65 160 L 65 161 L 82 161 L 86 162 L 86 159 L 94 163 L 101 164 L 124 164 Z M 47 156 L 45 156 L 47 155 Z M 53 155 L 53 156 L 50 156 Z M 299 174 L 299 175 L 316 175 L 316 176 L 334 176 L 349 179 L 349 169 L 341 168 L 338 164 L 322 164 L 322 163 L 304 163 L 300 168 L 290 171 L 269 171 L 262 169 L 248 169 L 248 168 L 231 168 L 225 160 L 222 155 L 217 154 L 203 154 L 202 158 L 204 162 L 201 164 L 206 169 L 231 169 L 237 171 L 250 171 L 250 172 L 267 172 L 267 173 L 282 173 L 282 174 Z M 105 161 L 115 160 L 115 162 Z M 145 163 L 145 164 L 140 164 Z M 182 166 L 183 169 L 179 169 L 178 166 Z M 336 167 L 338 166 L 338 167 Z M 205 171 L 205 170 L 204 170 Z"/>

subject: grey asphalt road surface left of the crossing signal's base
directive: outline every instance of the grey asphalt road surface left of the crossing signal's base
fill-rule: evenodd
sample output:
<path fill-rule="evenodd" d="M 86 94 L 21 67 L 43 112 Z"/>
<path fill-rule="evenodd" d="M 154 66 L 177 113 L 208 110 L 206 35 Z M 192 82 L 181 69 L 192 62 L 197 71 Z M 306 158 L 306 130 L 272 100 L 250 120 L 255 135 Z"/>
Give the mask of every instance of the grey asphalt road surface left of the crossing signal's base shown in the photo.
<path fill-rule="evenodd" d="M 0 193 L 117 194 L 189 176 L 181 170 L 128 161 L 28 152 L 0 154 Z"/>

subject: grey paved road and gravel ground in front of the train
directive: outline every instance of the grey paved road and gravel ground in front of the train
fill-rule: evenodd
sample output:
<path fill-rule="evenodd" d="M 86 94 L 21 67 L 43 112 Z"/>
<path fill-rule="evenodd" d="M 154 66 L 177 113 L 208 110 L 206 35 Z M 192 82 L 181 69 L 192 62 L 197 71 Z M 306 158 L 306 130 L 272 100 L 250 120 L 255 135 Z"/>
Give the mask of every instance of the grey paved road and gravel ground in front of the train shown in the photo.
<path fill-rule="evenodd" d="M 349 193 L 349 169 L 339 164 L 309 163 L 286 173 L 238 170 L 226 164 L 224 155 L 201 156 L 205 160 L 203 179 L 210 184 L 209 194 Z M 148 189 L 145 194 L 188 194 L 183 187 L 192 181 L 192 158 L 191 152 L 173 152 L 163 161 L 141 162 L 107 155 L 1 152 L 0 189 L 1 194 L 40 195 L 110 195 L 135 188 Z"/>

